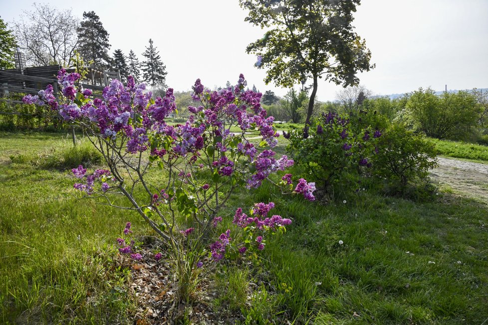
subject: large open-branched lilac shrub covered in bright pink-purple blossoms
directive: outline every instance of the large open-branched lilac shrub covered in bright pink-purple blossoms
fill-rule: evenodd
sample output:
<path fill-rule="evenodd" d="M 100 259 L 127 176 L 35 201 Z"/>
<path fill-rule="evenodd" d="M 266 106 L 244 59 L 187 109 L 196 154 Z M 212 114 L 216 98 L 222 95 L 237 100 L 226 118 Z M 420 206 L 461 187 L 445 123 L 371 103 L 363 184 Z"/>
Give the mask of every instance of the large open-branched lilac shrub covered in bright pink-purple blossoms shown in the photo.
<path fill-rule="evenodd" d="M 112 80 L 102 98 L 92 98 L 91 91 L 77 85 L 79 78 L 79 74 L 62 69 L 57 100 L 48 87 L 38 95 L 25 96 L 24 102 L 47 105 L 83 130 L 103 155 L 106 169 L 88 172 L 84 166 L 74 168 L 73 174 L 81 180 L 74 187 L 110 205 L 136 211 L 168 243 L 183 297 L 188 274 L 202 263 L 205 249 L 201 244 L 222 221 L 219 211 L 231 193 L 259 187 L 272 174 L 293 165 L 292 160 L 277 157 L 272 150 L 279 136 L 273 117 L 261 107 L 260 93 L 244 90 L 242 74 L 236 86 L 220 91 L 205 88 L 198 79 L 192 95 L 196 105 L 188 108 L 188 120 L 178 125 L 166 123 L 178 113 L 171 88 L 164 97 L 153 99 L 144 84 L 136 85 L 129 77 L 127 85 Z M 247 139 L 256 133 L 260 140 Z M 160 176 L 148 177 L 155 169 L 160 170 Z M 300 179 L 293 191 L 292 175 L 283 177 L 283 188 L 314 199 L 313 183 Z M 141 191 L 145 199 L 134 194 Z M 115 195 L 125 196 L 128 204 L 114 204 Z M 208 248 L 213 260 L 231 257 L 228 252 L 233 238 L 246 238 L 235 247 L 235 252 L 245 254 L 254 247 L 262 249 L 265 235 L 289 225 L 289 219 L 266 217 L 271 204 L 258 203 L 250 216 L 242 214 L 235 219 L 236 228 L 221 234 Z"/>

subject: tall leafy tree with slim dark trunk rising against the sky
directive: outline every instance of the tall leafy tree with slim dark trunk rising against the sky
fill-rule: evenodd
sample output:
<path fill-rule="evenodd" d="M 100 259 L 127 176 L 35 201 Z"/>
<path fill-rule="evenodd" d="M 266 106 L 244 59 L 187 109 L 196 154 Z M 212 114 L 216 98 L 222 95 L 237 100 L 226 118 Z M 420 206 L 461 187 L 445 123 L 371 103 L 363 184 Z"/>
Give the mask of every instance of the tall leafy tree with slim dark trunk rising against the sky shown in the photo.
<path fill-rule="evenodd" d="M 352 26 L 360 0 L 240 0 L 249 10 L 246 21 L 268 29 L 250 43 L 247 53 L 258 55 L 256 66 L 266 68 L 264 81 L 292 87 L 312 79 L 306 123 L 312 116 L 318 79 L 344 87 L 359 82 L 368 71 L 371 52 Z"/>

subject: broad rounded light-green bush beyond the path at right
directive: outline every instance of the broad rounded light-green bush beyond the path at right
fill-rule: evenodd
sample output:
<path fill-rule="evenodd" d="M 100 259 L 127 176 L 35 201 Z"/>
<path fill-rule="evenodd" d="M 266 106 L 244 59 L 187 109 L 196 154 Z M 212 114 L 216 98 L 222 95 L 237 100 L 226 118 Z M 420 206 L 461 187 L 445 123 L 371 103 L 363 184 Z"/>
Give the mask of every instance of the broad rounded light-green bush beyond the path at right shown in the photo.
<path fill-rule="evenodd" d="M 432 89 L 420 88 L 410 96 L 406 109 L 428 137 L 460 140 L 470 135 L 478 122 L 476 104 L 476 97 L 467 91 L 436 96 Z"/>

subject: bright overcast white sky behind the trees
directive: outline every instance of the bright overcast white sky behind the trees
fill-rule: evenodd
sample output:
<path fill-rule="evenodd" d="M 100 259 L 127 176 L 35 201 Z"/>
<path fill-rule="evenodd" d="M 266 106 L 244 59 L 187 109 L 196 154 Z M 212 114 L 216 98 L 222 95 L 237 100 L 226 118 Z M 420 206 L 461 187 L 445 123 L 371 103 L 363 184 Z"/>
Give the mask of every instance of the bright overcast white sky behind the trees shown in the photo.
<path fill-rule="evenodd" d="M 42 1 L 39 1 L 42 2 Z M 11 23 L 32 0 L 0 0 L 0 15 Z M 264 70 L 246 45 L 264 31 L 244 22 L 238 0 L 108 1 L 50 0 L 72 8 L 81 18 L 94 10 L 110 33 L 111 54 L 133 49 L 141 58 L 154 40 L 168 71 L 167 84 L 190 90 L 197 78 L 210 88 L 237 82 L 244 73 L 249 87 L 285 89 L 263 82 Z M 374 94 L 404 93 L 418 87 L 435 90 L 488 88 L 488 0 L 363 0 L 354 26 L 366 39 L 376 68 L 360 75 Z M 321 81 L 318 99 L 333 100 L 340 88 Z"/>

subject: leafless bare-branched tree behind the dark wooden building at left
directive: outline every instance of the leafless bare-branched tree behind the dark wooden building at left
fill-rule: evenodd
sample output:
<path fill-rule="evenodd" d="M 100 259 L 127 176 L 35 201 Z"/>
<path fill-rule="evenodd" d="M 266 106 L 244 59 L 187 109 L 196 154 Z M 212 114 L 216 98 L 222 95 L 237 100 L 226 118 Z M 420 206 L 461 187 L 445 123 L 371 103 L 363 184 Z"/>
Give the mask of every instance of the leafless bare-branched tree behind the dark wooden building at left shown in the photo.
<path fill-rule="evenodd" d="M 48 4 L 33 4 L 34 10 L 23 11 L 14 22 L 14 32 L 28 65 L 68 65 L 78 45 L 78 18 L 69 10 L 58 10 Z"/>

